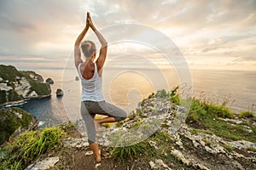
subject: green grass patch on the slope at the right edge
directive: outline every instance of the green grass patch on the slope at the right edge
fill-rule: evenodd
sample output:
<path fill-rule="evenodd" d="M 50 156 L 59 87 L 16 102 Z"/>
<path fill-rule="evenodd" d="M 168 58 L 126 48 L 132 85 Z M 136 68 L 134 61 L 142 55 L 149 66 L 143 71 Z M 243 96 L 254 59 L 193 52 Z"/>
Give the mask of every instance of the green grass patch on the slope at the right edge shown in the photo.
<path fill-rule="evenodd" d="M 252 118 L 252 111 L 242 111 L 239 117 Z M 242 124 L 232 124 L 222 118 L 234 118 L 235 113 L 225 105 L 216 105 L 207 100 L 191 99 L 189 116 L 186 122 L 195 132 L 215 134 L 226 140 L 247 140 L 256 142 L 256 133 L 248 133 L 246 127 L 256 132 L 256 127 L 244 122 Z"/>

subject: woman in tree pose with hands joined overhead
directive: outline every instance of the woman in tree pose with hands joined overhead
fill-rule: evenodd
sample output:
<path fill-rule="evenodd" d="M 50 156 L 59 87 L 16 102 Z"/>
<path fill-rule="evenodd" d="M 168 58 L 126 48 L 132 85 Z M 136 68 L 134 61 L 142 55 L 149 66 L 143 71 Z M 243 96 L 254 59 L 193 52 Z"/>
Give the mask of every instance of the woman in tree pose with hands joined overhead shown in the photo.
<path fill-rule="evenodd" d="M 82 42 L 85 34 L 91 28 L 101 42 L 102 47 L 99 57 L 96 59 L 96 45 L 91 41 Z M 84 54 L 81 58 L 80 46 Z M 75 42 L 74 61 L 82 83 L 81 115 L 84 119 L 88 133 L 90 149 L 96 156 L 96 161 L 101 161 L 101 151 L 96 143 L 97 124 L 104 122 L 119 122 L 126 118 L 126 113 L 115 105 L 105 102 L 102 95 L 102 70 L 107 57 L 108 42 L 102 34 L 96 30 L 91 21 L 90 13 L 87 13 L 86 26 Z M 96 59 L 96 62 L 94 60 Z M 105 115 L 102 119 L 94 119 L 96 114 Z"/>

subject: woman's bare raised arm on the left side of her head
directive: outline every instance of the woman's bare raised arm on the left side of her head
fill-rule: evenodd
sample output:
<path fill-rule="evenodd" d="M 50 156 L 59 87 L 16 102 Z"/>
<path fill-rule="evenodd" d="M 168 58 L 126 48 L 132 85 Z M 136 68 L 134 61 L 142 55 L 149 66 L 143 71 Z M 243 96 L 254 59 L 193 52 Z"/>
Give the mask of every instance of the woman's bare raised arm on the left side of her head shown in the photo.
<path fill-rule="evenodd" d="M 88 13 L 87 13 L 87 18 L 88 18 Z M 86 25 L 84 27 L 84 30 L 79 34 L 79 37 L 77 38 L 74 45 L 74 63 L 76 68 L 79 67 L 79 63 L 83 63 L 83 59 L 81 58 L 80 44 L 83 41 L 84 36 L 88 30 L 89 30 L 89 24 L 88 24 L 88 20 L 86 20 Z"/>

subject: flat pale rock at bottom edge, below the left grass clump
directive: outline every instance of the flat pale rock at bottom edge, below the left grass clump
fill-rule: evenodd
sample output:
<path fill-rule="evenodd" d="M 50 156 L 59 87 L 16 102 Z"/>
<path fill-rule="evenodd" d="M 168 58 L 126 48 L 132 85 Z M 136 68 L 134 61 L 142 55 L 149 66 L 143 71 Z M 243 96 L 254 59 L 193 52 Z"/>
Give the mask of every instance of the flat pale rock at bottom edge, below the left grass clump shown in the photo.
<path fill-rule="evenodd" d="M 38 161 L 33 163 L 30 166 L 26 167 L 25 170 L 44 170 L 54 167 L 55 164 L 60 160 L 59 156 L 47 157 L 43 161 Z"/>

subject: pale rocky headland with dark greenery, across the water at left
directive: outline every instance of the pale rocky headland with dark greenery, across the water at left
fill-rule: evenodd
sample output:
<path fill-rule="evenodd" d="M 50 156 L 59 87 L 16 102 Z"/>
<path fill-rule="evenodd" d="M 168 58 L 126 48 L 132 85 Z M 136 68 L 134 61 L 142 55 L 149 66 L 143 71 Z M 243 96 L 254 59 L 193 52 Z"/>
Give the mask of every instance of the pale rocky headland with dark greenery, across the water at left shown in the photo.
<path fill-rule="evenodd" d="M 18 71 L 13 65 L 0 65 L 0 106 L 18 105 L 26 99 L 50 96 L 44 78 L 34 71 Z"/>

